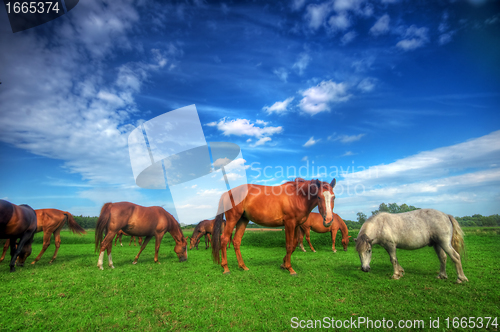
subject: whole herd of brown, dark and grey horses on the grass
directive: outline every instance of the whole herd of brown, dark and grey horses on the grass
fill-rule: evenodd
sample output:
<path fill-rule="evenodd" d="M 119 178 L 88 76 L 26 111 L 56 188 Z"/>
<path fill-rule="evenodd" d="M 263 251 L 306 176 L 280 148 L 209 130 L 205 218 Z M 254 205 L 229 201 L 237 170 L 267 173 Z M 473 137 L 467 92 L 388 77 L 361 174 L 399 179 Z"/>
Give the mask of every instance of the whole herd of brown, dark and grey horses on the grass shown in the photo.
<path fill-rule="evenodd" d="M 190 249 L 198 248 L 201 237 L 205 235 L 206 248 L 211 241 L 213 260 L 220 264 L 224 269 L 223 273 L 227 274 L 230 270 L 226 250 L 232 243 L 238 266 L 248 270 L 240 251 L 241 239 L 248 223 L 252 221 L 266 227 L 284 226 L 286 255 L 281 268 L 288 270 L 290 275 L 296 275 L 291 265 L 291 255 L 298 243 L 305 251 L 302 245 L 304 235 L 311 250 L 315 251 L 309 236 L 311 229 L 319 233 L 331 232 L 334 252 L 336 252 L 335 237 L 340 229 L 342 246 L 347 250 L 350 238 L 347 227 L 343 220 L 333 213 L 335 184 L 335 179 L 328 183 L 297 178 L 281 186 L 247 184 L 231 189 L 222 194 L 216 218 L 204 220 L 196 226 L 191 237 Z M 315 207 L 319 213 L 311 212 Z M 50 261 L 52 263 L 61 243 L 59 235 L 61 228 L 66 222 L 74 233 L 85 233 L 69 212 L 55 209 L 35 211 L 28 205 L 18 206 L 0 200 L 0 239 L 10 240 L 10 271 L 15 271 L 16 260 L 18 265 L 24 264 L 31 254 L 33 236 L 40 231 L 44 232 L 43 248 L 32 264 L 43 255 L 50 245 L 51 235 L 54 234 L 56 251 Z M 158 262 L 160 244 L 167 232 L 175 240 L 174 252 L 179 261 L 186 261 L 188 237 L 183 235 L 179 223 L 165 209 L 158 206 L 144 207 L 129 202 L 106 203 L 101 209 L 95 230 L 95 250 L 99 253 L 97 266 L 103 269 L 104 251 L 107 251 L 108 266 L 114 268 L 111 256 L 112 242 L 116 236 L 121 243 L 122 235 L 139 237 L 140 244 L 142 237 L 144 238 L 133 264 L 137 263 L 141 252 L 154 237 L 154 261 Z M 379 213 L 363 224 L 355 241 L 361 270 L 364 272 L 370 270 L 371 250 L 374 244 L 379 244 L 388 252 L 394 267 L 392 276 L 394 279 L 399 279 L 404 273 L 396 257 L 396 248 L 418 249 L 433 246 L 441 263 L 438 278 L 447 278 L 448 254 L 455 263 L 457 282 L 468 281 L 463 273 L 460 257 L 460 253 L 464 250 L 463 232 L 457 221 L 443 212 L 422 209 L 401 214 Z M 4 255 L 6 249 L 7 245 L 4 247 Z M 3 256 L 0 261 L 2 260 Z"/>

